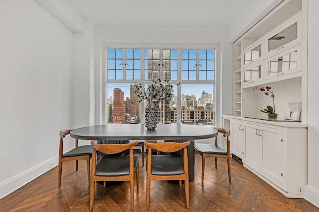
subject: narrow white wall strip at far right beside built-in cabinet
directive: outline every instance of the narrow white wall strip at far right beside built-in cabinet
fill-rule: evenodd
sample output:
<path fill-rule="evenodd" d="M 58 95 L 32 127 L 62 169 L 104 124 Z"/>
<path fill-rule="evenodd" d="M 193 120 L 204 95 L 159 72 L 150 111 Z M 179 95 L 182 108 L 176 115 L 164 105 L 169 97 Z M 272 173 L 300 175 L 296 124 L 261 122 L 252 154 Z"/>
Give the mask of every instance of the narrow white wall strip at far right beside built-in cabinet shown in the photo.
<path fill-rule="evenodd" d="M 308 0 L 308 185 L 305 199 L 319 207 L 319 1 Z"/>

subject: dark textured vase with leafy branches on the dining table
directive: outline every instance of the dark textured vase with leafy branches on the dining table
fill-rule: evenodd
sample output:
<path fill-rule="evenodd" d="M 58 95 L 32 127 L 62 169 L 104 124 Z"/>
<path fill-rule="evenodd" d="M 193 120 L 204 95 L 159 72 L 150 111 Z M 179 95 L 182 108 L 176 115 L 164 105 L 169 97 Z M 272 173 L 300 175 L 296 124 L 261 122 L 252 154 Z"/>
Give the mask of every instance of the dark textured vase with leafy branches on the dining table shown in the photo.
<path fill-rule="evenodd" d="M 179 85 L 177 83 L 176 85 Z M 139 102 L 145 100 L 145 127 L 148 130 L 154 130 L 157 126 L 160 102 L 170 99 L 172 97 L 173 85 L 169 80 L 154 78 L 151 80 L 147 88 L 141 83 L 135 82 L 134 92 L 138 94 Z"/>

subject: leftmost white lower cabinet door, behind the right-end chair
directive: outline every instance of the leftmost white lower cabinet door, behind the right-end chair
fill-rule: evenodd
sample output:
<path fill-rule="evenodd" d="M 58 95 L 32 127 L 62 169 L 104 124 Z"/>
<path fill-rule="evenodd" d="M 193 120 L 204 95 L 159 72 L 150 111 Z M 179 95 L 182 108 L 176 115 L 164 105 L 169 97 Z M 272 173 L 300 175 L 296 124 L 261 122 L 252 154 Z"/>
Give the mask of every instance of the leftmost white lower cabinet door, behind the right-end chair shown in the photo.
<path fill-rule="evenodd" d="M 231 120 L 230 135 L 231 135 L 231 153 L 243 159 L 243 126 L 240 120 Z"/>

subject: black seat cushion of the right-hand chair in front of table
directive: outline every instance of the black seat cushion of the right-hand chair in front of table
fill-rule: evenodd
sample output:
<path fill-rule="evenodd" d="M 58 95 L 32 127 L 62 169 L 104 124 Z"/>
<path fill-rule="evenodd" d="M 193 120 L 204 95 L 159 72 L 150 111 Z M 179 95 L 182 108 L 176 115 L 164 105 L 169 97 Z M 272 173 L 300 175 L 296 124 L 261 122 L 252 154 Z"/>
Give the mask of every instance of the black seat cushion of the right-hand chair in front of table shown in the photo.
<path fill-rule="evenodd" d="M 152 155 L 152 171 L 154 175 L 184 174 L 182 155 Z"/>

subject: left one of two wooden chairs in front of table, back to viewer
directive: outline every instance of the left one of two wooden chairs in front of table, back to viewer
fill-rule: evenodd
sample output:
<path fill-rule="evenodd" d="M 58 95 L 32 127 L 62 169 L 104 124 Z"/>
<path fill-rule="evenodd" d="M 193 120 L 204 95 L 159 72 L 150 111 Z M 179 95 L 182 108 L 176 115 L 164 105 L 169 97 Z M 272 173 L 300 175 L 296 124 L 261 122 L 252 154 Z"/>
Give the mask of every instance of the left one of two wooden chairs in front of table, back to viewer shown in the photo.
<path fill-rule="evenodd" d="M 138 141 L 124 144 L 97 144 L 91 141 L 93 148 L 91 181 L 90 181 L 90 211 L 93 210 L 94 185 L 96 181 L 130 181 L 131 189 L 131 210 L 134 210 L 134 170 L 137 175 L 139 171 L 140 155 L 133 154 L 133 146 Z M 129 155 L 119 155 L 117 153 L 130 149 Z M 107 155 L 101 156 L 97 161 L 96 150 Z M 110 155 L 111 154 L 111 155 Z M 112 155 L 114 154 L 114 155 Z M 138 187 L 137 177 L 137 187 Z M 105 184 L 104 184 L 105 185 Z"/>

